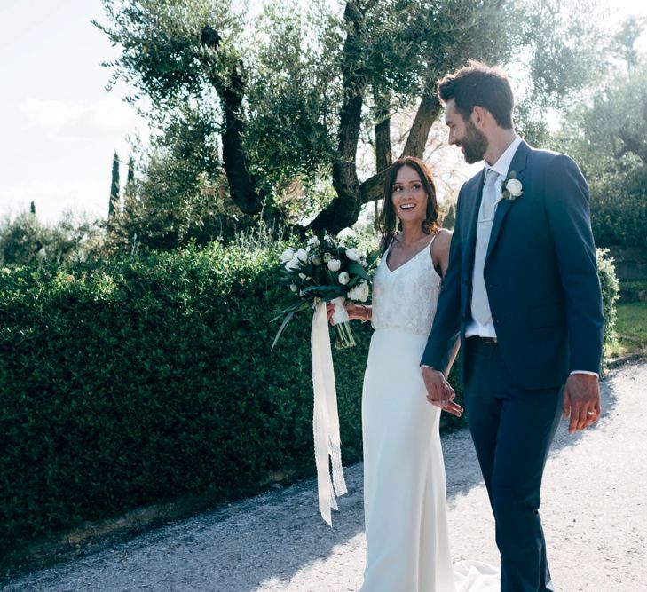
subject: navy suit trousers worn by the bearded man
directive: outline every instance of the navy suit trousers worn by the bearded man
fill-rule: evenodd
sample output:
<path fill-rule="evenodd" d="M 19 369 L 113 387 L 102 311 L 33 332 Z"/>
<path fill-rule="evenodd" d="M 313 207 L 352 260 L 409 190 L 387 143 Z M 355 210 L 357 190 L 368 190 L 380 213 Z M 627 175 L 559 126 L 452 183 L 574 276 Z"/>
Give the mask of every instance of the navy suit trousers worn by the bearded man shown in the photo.
<path fill-rule="evenodd" d="M 522 388 L 496 343 L 468 338 L 463 355 L 465 413 L 496 523 L 501 592 L 552 590 L 539 508 L 561 388 Z"/>

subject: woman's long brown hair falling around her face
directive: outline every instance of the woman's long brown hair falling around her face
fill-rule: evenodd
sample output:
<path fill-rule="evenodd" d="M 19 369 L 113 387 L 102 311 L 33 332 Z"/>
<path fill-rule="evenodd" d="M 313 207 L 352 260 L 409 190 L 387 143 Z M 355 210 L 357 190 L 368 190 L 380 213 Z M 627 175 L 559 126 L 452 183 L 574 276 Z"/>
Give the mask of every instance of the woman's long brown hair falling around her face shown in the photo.
<path fill-rule="evenodd" d="M 425 218 L 422 221 L 422 232 L 425 234 L 433 234 L 438 231 L 438 201 L 436 201 L 436 185 L 431 177 L 429 167 L 415 156 L 402 156 L 396 162 L 391 164 L 391 167 L 386 172 L 386 180 L 384 181 L 384 205 L 378 220 L 380 233 L 382 233 L 382 252 L 386 251 L 393 241 L 395 234 L 398 230 L 402 230 L 402 225 L 396 216 L 395 208 L 393 207 L 393 185 L 395 185 L 396 178 L 398 177 L 398 170 L 407 166 L 414 169 L 420 176 L 422 187 L 427 193 L 427 210 Z"/>

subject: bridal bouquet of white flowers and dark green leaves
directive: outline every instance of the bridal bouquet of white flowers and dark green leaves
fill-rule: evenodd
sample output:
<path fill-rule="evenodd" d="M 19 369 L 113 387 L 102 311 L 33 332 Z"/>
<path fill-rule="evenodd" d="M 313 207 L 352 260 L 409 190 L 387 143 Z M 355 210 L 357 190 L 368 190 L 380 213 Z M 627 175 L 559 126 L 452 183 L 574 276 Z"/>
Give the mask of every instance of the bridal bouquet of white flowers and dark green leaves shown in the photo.
<path fill-rule="evenodd" d="M 312 236 L 301 247 L 290 247 L 280 256 L 283 275 L 281 282 L 288 286 L 298 301 L 291 304 L 273 320 L 283 319 L 272 343 L 288 326 L 296 312 L 312 308 L 319 301 L 335 305 L 335 347 L 341 349 L 355 345 L 348 313 L 343 306 L 345 298 L 366 302 L 370 295 L 371 276 L 378 252 L 363 255 L 343 242 L 335 242 L 329 235 Z"/>

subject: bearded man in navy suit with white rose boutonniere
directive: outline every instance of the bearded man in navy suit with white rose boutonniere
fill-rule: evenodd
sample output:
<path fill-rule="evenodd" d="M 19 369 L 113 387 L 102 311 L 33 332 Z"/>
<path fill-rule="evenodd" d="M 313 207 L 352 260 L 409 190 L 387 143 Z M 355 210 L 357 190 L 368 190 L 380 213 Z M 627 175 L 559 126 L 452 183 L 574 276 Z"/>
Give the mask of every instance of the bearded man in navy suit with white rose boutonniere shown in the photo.
<path fill-rule="evenodd" d="M 501 552 L 501 590 L 552 590 L 540 485 L 560 408 L 569 431 L 600 415 L 603 312 L 588 187 L 568 156 L 513 128 L 498 69 L 471 62 L 438 84 L 449 143 L 485 168 L 458 196 L 449 266 L 422 356 L 428 399 L 452 411 L 446 369 L 462 343 L 469 430 Z"/>

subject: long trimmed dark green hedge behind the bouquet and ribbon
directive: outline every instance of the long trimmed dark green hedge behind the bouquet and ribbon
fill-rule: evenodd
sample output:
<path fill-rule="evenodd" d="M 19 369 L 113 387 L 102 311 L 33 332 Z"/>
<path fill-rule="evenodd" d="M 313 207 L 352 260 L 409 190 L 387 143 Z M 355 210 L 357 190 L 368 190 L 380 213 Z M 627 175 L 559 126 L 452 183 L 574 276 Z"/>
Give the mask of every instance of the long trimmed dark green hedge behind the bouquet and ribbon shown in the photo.
<path fill-rule="evenodd" d="M 314 473 L 310 315 L 270 352 L 291 296 L 282 247 L 0 270 L 0 556 L 82 520 Z M 344 464 L 361 458 L 371 334 L 353 330 L 358 346 L 334 351 Z"/>

